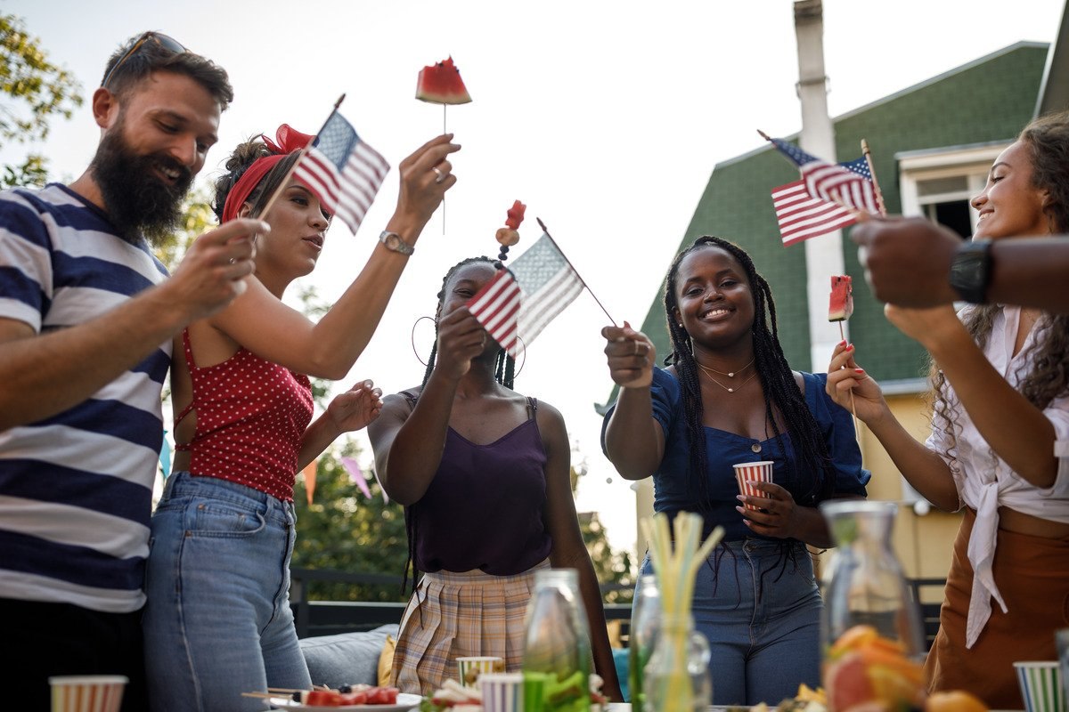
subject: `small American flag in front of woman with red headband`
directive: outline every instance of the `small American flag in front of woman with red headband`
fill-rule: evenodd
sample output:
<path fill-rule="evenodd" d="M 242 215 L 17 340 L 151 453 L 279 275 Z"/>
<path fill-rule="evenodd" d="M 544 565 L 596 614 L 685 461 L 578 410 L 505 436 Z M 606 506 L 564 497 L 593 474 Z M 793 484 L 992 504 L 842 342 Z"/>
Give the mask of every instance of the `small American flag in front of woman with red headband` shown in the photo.
<path fill-rule="evenodd" d="M 386 159 L 336 111 L 297 161 L 293 176 L 356 233 L 389 170 Z"/>

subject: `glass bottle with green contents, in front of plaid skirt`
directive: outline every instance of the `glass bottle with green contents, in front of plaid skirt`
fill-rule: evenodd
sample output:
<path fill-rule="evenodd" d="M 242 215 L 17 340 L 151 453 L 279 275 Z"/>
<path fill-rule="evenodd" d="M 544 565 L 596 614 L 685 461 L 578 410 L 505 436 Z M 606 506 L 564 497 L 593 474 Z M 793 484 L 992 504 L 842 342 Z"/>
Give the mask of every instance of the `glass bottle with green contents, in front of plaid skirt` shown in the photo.
<path fill-rule="evenodd" d="M 537 571 L 525 622 L 525 712 L 589 712 L 590 627 L 578 571 Z"/>

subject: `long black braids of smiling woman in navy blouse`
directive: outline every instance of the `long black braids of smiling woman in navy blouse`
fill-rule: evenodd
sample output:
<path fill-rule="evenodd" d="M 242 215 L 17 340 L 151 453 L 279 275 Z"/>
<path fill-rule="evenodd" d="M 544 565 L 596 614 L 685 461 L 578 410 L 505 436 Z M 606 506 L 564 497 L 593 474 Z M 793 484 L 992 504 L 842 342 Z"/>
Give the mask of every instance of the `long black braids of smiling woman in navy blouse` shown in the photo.
<path fill-rule="evenodd" d="M 668 332 L 671 335 L 672 352 L 668 354 L 665 365 L 676 365 L 676 373 L 683 391 L 683 412 L 686 423 L 686 436 L 690 444 L 690 473 L 693 484 L 698 485 L 702 505 L 709 504 L 708 454 L 706 452 L 704 426 L 702 425 L 701 386 L 698 382 L 698 368 L 694 360 L 691 335 L 679 326 L 673 318 L 679 305 L 676 298 L 676 280 L 683 259 L 692 252 L 706 248 L 719 248 L 730 254 L 746 272 L 754 298 L 754 339 L 755 368 L 764 391 L 765 420 L 772 424 L 776 443 L 783 457 L 788 456 L 783 433 L 776 423 L 775 411 L 783 414 L 787 431 L 791 434 L 793 450 L 799 459 L 799 466 L 789 469 L 794 474 L 789 475 L 786 489 L 794 501 L 803 506 L 814 506 L 831 496 L 835 472 L 827 452 L 827 444 L 821 434 L 816 418 L 805 404 L 794 380 L 783 347 L 779 344 L 779 331 L 776 322 L 776 304 L 772 299 L 769 283 L 758 274 L 749 255 L 733 242 L 704 236 L 695 240 L 694 244 L 676 256 L 665 280 L 665 314 L 668 321 Z M 771 329 L 770 329 L 771 327 Z"/>

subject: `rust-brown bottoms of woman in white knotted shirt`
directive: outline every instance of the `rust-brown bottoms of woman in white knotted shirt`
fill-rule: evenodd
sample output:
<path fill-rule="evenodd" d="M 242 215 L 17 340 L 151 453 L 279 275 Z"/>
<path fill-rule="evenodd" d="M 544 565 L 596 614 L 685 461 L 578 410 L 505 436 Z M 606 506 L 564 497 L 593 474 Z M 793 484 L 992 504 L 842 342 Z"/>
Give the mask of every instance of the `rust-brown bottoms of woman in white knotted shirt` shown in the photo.
<path fill-rule="evenodd" d="M 976 644 L 965 648 L 965 618 L 973 587 L 966 555 L 976 512 L 965 518 L 954 543 L 940 630 L 928 653 L 929 692 L 965 690 L 988 707 L 1024 709 L 1016 661 L 1057 660 L 1054 631 L 1069 626 L 1069 539 L 1044 539 L 998 529 L 992 565 L 1009 613 L 991 601 L 991 618 Z"/>

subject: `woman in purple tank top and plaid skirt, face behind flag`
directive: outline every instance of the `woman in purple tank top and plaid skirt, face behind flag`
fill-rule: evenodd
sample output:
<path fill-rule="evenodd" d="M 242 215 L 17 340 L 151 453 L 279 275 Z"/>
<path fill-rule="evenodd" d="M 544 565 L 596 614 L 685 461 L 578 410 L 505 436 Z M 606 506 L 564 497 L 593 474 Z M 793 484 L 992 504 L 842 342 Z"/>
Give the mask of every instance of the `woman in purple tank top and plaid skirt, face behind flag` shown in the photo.
<path fill-rule="evenodd" d="M 431 694 L 467 655 L 517 671 L 534 571 L 553 566 L 578 569 L 594 665 L 605 694 L 621 700 L 564 421 L 512 390 L 512 359 L 465 305 L 495 269 L 476 257 L 446 273 L 423 383 L 384 398 L 368 428 L 383 488 L 405 505 L 409 563 L 423 574 L 401 619 L 391 683 Z"/>

